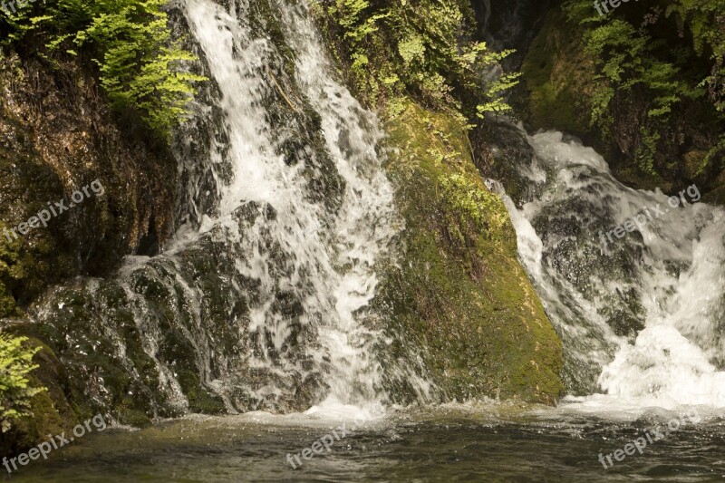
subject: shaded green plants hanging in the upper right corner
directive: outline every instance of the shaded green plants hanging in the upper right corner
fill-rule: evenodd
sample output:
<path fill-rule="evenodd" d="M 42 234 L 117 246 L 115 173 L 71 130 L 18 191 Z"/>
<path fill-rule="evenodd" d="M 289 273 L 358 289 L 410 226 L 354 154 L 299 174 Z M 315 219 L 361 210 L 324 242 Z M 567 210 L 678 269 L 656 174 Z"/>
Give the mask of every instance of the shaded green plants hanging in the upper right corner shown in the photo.
<path fill-rule="evenodd" d="M 641 113 L 631 106 L 640 124 L 634 159 L 643 172 L 656 177 L 662 170 L 655 166 L 657 151 L 672 130 L 673 112 L 685 103 L 709 102 L 712 120 L 725 123 L 725 0 L 631 4 L 603 16 L 589 0 L 569 0 L 564 9 L 583 27 L 584 53 L 595 64 L 592 127 L 606 137 L 622 117 L 623 100 L 647 100 Z M 723 151 L 720 129 L 699 171 Z"/>

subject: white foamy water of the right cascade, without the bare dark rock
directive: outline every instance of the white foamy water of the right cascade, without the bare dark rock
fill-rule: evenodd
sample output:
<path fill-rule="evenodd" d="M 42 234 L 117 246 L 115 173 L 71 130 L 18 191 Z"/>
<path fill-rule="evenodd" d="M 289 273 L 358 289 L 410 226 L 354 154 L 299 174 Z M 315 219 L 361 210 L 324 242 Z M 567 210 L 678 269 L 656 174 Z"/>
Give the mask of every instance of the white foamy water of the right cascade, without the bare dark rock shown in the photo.
<path fill-rule="evenodd" d="M 563 142 L 560 132 L 542 132 L 528 140 L 540 163 L 534 168 L 537 172 L 546 169 L 548 175 L 542 195 L 522 209 L 505 198 L 517 230 L 519 255 L 547 314 L 563 335 L 565 351 L 602 366 L 598 384 L 604 394 L 570 398 L 564 406 L 624 412 L 651 407 L 725 407 L 725 344 L 720 327 L 725 314 L 725 212 L 694 202 L 698 198 L 694 189 L 692 195 L 684 195 L 689 201 L 684 208 L 671 208 L 659 189 L 627 188 L 612 177 L 600 155 L 576 142 Z M 596 226 L 589 217 L 603 217 L 605 225 L 614 228 L 644 207 L 661 205 L 662 216 L 640 228 L 641 238 L 628 234 L 614 240 L 641 253 L 632 258 L 633 286 L 594 273 L 587 266 L 570 266 L 570 260 L 559 260 L 556 266 L 550 260 L 546 263 L 545 252 L 555 256 L 556 243 L 565 237 L 549 234 L 550 246 L 546 246 L 531 221 L 544 210 L 557 213 L 574 198 L 594 207 L 592 213 L 564 213 L 578 220 L 584 232 L 589 224 Z M 616 256 L 618 246 L 601 246 L 594 232 L 588 237 L 576 240 L 580 250 L 594 247 L 602 257 Z M 568 270 L 588 277 L 588 292 L 580 292 L 569 282 Z M 615 335 L 601 314 L 608 300 L 605 295 L 631 288 L 646 316 L 645 328 L 628 340 Z"/>

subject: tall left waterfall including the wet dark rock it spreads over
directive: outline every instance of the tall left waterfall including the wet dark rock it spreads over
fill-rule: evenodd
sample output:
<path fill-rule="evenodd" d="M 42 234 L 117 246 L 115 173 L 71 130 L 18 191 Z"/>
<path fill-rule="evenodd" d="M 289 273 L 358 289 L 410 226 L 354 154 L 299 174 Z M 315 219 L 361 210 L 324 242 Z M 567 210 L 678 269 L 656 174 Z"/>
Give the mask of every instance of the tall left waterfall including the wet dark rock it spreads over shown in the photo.
<path fill-rule="evenodd" d="M 382 132 L 334 80 L 307 8 L 257 4 L 179 7 L 211 88 L 175 142 L 187 215 L 165 252 L 56 289 L 35 310 L 59 347 L 79 351 L 71 372 L 131 380 L 93 382 L 101 407 L 119 387 L 134 411 L 162 416 L 219 398 L 227 411 L 384 398 L 378 333 L 361 311 L 396 225 Z"/>

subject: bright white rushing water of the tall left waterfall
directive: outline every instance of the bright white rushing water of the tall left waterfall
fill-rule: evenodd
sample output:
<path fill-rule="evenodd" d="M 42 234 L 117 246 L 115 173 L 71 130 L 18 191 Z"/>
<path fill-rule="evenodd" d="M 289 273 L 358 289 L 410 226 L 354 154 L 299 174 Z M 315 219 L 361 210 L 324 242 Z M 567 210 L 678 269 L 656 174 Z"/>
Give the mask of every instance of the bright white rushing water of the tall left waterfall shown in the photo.
<path fill-rule="evenodd" d="M 311 201 L 304 163 L 290 167 L 275 155 L 275 143 L 295 132 L 272 133 L 266 121 L 264 97 L 270 90 L 285 89 L 275 85 L 277 79 L 270 82 L 273 74 L 267 73 L 273 46 L 266 39 L 251 38 L 244 19 L 236 14 L 208 0 L 188 0 L 191 31 L 222 92 L 234 171 L 233 182 L 224 188 L 220 216 L 208 218 L 201 231 L 225 227 L 241 252 L 237 270 L 261 282 L 266 297 L 250 307 L 250 330 L 271 337 L 277 351 L 284 350 L 290 329 L 288 321 L 269 308 L 279 290 L 302 294 L 303 324 L 319 327 L 321 348 L 312 356 L 329 370 L 325 382 L 330 392 L 323 406 L 370 405 L 381 397 L 378 362 L 371 350 L 377 333 L 355 313 L 374 295 L 374 267 L 395 225 L 391 186 L 375 152 L 382 133 L 372 113 L 334 80 L 306 7 L 295 9 L 287 2 L 276 7 L 288 29 L 286 42 L 296 54 L 296 82 L 322 118 L 326 149 L 345 184 L 342 206 L 329 213 Z M 243 17 L 248 5 L 242 1 L 233 8 Z M 291 100 L 293 107 L 301 108 L 296 101 Z M 308 148 L 304 158 L 313 156 Z M 252 229 L 238 233 L 233 215 L 250 201 L 274 208 L 275 220 L 260 216 Z M 266 249 L 270 239 L 288 254 L 281 274 L 271 273 Z M 252 364 L 259 367 L 274 365 L 266 353 L 255 359 Z"/>

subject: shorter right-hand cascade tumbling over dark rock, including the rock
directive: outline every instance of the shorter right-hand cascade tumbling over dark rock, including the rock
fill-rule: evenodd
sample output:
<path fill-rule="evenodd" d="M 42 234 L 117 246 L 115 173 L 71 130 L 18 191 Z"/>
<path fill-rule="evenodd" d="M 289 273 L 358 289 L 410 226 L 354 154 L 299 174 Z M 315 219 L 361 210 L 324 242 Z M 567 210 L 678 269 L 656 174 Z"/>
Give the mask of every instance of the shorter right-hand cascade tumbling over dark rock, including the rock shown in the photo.
<path fill-rule="evenodd" d="M 505 201 L 564 342 L 569 391 L 605 391 L 594 400 L 610 404 L 724 407 L 725 210 L 699 202 L 694 185 L 681 187 L 679 208 L 659 190 L 627 188 L 559 132 L 527 140 L 536 154 L 521 173 L 528 198 Z M 635 219 L 624 237 L 611 231 Z"/>

